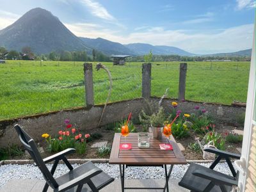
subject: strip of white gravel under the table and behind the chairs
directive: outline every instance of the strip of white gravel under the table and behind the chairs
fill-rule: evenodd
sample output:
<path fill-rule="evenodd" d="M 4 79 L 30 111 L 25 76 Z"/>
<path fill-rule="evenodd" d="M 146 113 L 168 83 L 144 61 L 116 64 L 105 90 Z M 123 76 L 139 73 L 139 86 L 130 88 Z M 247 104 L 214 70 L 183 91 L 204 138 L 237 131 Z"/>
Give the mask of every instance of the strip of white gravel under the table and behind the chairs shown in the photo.
<path fill-rule="evenodd" d="M 203 166 L 209 167 L 211 163 L 200 163 Z M 101 168 L 104 172 L 111 175 L 115 179 L 119 179 L 120 172 L 119 166 L 108 164 L 108 163 L 95 163 L 96 166 Z M 47 167 L 51 169 L 52 164 L 47 164 Z M 73 164 L 76 168 L 79 164 Z M 173 166 L 171 179 L 180 179 L 186 172 L 189 164 L 186 165 L 175 165 Z M 228 168 L 227 163 L 219 163 L 214 170 L 229 174 L 231 172 Z M 55 177 L 59 177 L 63 173 L 68 172 L 65 164 L 59 164 L 54 173 Z M 10 179 L 42 179 L 44 180 L 40 170 L 33 164 L 4 164 L 0 166 L 0 189 Z M 125 169 L 125 179 L 164 179 L 164 169 L 161 167 L 129 167 Z"/>

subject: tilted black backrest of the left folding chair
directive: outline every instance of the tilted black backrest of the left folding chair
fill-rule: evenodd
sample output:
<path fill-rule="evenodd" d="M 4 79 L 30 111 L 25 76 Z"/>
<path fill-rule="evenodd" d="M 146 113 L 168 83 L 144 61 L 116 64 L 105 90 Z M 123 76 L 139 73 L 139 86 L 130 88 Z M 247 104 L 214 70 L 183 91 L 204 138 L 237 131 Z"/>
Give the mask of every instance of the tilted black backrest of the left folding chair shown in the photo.
<path fill-rule="evenodd" d="M 49 186 L 51 186 L 52 188 L 58 188 L 59 185 L 52 176 L 51 172 L 49 172 L 46 164 L 40 156 L 35 141 L 31 138 L 31 136 L 29 136 L 26 131 L 24 131 L 24 129 L 20 127 L 20 125 L 15 125 L 14 128 L 19 134 L 21 143 L 24 145 L 26 150 L 28 150 L 30 156 L 33 158 L 36 165 L 44 175 L 44 179 L 46 180 L 47 184 L 49 184 Z"/>

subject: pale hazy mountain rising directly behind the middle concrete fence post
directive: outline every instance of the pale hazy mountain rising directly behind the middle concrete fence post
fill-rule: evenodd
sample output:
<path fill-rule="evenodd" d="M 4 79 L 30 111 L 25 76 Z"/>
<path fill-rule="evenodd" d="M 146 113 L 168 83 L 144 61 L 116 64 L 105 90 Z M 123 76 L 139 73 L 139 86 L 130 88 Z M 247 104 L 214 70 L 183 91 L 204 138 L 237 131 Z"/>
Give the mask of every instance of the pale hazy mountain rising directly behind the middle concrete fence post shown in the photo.
<path fill-rule="evenodd" d="M 184 51 L 177 47 L 170 47 L 164 45 L 150 45 L 150 44 L 127 44 L 125 47 L 131 49 L 131 51 L 137 52 L 139 55 L 148 54 L 150 50 L 153 54 L 179 54 L 180 56 L 195 56 L 191 52 Z"/>

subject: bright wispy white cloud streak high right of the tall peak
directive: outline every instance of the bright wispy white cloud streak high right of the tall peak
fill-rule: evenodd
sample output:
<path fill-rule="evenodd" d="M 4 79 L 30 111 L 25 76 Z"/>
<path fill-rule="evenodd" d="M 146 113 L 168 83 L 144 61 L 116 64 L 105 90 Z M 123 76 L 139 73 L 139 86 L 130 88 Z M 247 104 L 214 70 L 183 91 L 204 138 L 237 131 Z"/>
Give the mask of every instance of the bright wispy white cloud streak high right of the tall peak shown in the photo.
<path fill-rule="evenodd" d="M 95 17 L 99 17 L 100 19 L 115 21 L 115 17 L 113 17 L 102 4 L 97 3 L 92 0 L 80 0 L 81 3 L 85 4 L 91 11 L 91 13 Z"/>

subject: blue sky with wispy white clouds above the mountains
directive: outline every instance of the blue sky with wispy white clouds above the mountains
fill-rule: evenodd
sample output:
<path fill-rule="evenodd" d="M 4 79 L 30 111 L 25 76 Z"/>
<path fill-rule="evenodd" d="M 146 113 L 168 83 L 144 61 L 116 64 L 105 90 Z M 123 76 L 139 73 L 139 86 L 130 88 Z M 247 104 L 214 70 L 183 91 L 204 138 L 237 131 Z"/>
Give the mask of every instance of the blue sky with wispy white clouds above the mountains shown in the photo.
<path fill-rule="evenodd" d="M 0 29 L 41 7 L 77 36 L 170 45 L 196 54 L 252 48 L 254 0 L 0 0 L 0 4 Z"/>

